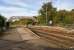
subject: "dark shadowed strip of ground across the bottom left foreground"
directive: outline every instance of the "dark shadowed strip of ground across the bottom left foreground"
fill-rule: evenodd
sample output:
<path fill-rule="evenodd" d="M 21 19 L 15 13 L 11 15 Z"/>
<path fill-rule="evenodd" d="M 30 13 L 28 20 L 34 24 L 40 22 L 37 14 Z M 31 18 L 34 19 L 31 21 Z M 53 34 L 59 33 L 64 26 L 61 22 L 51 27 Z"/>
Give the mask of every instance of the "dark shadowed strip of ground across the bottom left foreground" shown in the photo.
<path fill-rule="evenodd" d="M 27 43 L 27 41 L 16 43 L 0 40 L 0 50 L 45 50 L 45 48 L 47 47 Z"/>

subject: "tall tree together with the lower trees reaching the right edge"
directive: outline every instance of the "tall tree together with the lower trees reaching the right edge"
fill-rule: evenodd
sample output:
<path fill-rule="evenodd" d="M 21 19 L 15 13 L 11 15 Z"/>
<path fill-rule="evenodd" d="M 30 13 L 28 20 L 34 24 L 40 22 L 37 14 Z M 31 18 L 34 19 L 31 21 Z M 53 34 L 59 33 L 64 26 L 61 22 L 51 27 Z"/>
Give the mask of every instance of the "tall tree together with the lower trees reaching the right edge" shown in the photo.
<path fill-rule="evenodd" d="M 39 10 L 39 15 L 37 16 L 39 25 L 49 25 L 49 21 L 52 21 L 52 25 L 73 25 L 74 24 L 74 9 L 59 10 L 53 7 L 51 2 L 44 3 Z"/>

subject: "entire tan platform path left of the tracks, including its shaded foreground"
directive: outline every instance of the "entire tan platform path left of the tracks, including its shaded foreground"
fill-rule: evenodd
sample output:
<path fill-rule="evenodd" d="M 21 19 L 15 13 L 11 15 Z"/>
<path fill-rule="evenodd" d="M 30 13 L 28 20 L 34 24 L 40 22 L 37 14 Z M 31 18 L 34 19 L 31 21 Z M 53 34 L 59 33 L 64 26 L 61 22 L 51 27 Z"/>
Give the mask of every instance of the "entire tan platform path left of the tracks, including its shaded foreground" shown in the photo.
<path fill-rule="evenodd" d="M 15 28 L 0 39 L 0 50 L 46 50 L 49 43 L 28 28 Z"/>

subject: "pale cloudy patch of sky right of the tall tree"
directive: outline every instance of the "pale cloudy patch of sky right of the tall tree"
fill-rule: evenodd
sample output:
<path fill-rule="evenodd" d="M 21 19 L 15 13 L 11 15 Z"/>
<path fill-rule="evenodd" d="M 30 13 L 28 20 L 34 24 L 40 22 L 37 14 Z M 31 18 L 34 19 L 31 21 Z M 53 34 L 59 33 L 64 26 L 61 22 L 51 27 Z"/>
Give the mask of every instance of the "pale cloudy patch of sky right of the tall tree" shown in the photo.
<path fill-rule="evenodd" d="M 71 10 L 74 9 L 74 0 L 53 0 L 53 5 L 58 9 L 58 10 Z"/>

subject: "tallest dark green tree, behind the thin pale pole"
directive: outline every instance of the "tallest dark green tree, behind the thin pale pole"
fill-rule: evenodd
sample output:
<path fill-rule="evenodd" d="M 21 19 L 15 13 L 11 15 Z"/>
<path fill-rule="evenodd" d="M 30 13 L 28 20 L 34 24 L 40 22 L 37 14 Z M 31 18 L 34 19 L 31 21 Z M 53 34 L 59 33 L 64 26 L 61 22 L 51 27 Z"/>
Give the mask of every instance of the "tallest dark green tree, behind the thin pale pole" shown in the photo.
<path fill-rule="evenodd" d="M 54 13 L 56 9 L 53 8 L 52 3 L 44 3 L 42 8 L 39 10 L 38 20 L 43 25 L 48 25 L 49 21 L 53 21 Z"/>

